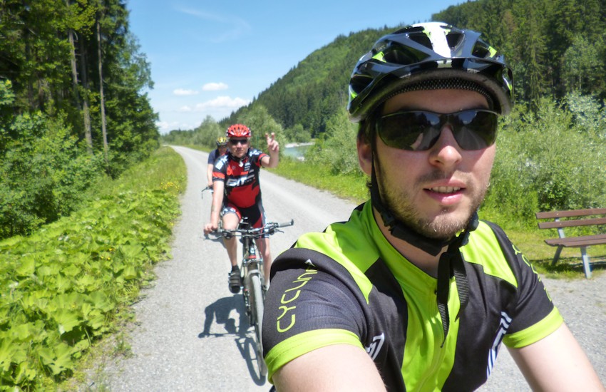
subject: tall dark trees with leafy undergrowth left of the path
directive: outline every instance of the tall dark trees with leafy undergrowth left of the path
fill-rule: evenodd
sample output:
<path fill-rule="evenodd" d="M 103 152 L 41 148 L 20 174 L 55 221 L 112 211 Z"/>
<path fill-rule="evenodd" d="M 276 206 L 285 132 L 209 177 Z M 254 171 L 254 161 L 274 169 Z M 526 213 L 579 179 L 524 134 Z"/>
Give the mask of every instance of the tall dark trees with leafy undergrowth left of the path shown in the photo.
<path fill-rule="evenodd" d="M 158 148 L 152 86 L 125 1 L 0 2 L 0 239 Z"/>

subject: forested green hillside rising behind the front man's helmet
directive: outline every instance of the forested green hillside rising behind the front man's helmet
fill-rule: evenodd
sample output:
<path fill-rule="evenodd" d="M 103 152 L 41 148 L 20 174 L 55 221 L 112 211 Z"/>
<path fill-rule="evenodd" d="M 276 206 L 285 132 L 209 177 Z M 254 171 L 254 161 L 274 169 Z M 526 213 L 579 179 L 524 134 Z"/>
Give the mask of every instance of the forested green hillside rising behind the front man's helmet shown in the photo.
<path fill-rule="evenodd" d="M 606 98 L 605 1 L 468 1 L 433 14 L 432 20 L 481 31 L 513 66 L 518 100 L 530 102 L 541 96 L 559 100 L 571 91 Z M 346 105 L 347 83 L 357 59 L 377 38 L 397 27 L 339 36 L 307 56 L 249 106 L 265 106 L 284 129 L 302 125 L 319 135 L 328 118 Z M 226 123 L 235 122 L 250 107 L 233 113 Z"/>

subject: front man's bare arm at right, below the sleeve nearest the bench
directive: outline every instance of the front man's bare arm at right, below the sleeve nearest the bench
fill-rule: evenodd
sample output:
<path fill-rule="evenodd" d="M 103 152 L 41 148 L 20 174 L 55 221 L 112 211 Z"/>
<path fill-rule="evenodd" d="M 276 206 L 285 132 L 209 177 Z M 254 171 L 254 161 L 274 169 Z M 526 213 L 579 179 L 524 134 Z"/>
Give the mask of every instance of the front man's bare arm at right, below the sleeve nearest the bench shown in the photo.
<path fill-rule="evenodd" d="M 509 349 L 533 391 L 606 391 L 568 326 L 521 349 Z"/>

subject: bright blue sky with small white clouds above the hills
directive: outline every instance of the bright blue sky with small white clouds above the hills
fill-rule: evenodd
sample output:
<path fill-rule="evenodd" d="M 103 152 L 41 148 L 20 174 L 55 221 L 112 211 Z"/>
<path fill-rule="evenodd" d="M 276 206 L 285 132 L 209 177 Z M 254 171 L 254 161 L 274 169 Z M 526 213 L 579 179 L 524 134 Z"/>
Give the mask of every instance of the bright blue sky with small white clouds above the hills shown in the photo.
<path fill-rule="evenodd" d="M 167 133 L 195 128 L 207 115 L 222 120 L 339 34 L 428 21 L 461 2 L 127 0 L 127 8 Z"/>

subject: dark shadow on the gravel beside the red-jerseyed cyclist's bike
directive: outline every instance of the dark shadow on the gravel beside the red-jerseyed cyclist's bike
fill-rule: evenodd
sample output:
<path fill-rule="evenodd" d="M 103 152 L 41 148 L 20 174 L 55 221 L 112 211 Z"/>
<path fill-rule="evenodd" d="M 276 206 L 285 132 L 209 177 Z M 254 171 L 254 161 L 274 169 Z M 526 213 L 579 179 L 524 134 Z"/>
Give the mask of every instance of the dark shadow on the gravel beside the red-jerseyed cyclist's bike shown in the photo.
<path fill-rule="evenodd" d="M 261 376 L 257 370 L 255 339 L 252 338 L 254 332 L 248 322 L 242 294 L 217 299 L 217 301 L 206 306 L 204 314 L 204 329 L 197 337 L 205 339 L 235 336 L 235 344 L 247 363 L 252 381 L 258 386 L 265 385 L 265 376 Z M 220 329 L 224 331 L 217 332 Z"/>

